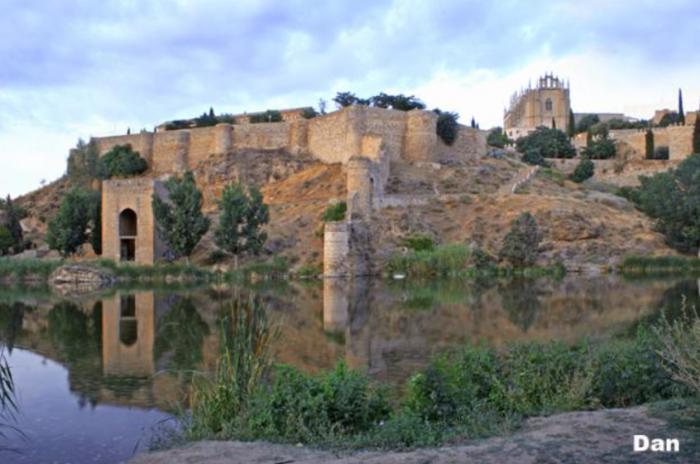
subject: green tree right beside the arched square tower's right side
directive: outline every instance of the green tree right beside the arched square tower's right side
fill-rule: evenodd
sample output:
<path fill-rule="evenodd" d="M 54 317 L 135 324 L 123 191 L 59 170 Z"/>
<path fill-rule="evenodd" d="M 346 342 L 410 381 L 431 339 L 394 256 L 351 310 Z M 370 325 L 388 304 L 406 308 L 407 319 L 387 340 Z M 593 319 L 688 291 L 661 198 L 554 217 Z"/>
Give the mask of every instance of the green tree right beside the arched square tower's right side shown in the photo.
<path fill-rule="evenodd" d="M 153 194 L 153 215 L 158 234 L 176 256 L 189 257 L 209 230 L 209 218 L 202 213 L 202 192 L 192 172 L 165 182 L 169 199 Z"/>

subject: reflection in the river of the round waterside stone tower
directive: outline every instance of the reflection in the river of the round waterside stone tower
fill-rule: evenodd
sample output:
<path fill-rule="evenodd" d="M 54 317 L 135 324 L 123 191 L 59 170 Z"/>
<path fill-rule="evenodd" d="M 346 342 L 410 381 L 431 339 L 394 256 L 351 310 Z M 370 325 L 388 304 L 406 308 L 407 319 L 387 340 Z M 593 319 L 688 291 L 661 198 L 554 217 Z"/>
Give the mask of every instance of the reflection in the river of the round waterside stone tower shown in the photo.
<path fill-rule="evenodd" d="M 323 281 L 323 330 L 345 332 L 345 361 L 351 367 L 369 363 L 369 300 L 367 279 Z"/>

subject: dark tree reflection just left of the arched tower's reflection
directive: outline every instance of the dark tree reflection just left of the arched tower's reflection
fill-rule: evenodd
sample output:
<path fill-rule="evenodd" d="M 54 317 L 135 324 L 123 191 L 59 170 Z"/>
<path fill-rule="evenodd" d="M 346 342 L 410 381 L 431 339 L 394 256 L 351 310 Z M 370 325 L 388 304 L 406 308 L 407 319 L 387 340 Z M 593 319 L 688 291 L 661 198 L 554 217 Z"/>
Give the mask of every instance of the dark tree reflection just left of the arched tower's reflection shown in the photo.
<path fill-rule="evenodd" d="M 99 357 L 101 334 L 101 311 L 97 308 L 90 317 L 76 304 L 64 301 L 49 312 L 49 336 L 69 362 Z"/>

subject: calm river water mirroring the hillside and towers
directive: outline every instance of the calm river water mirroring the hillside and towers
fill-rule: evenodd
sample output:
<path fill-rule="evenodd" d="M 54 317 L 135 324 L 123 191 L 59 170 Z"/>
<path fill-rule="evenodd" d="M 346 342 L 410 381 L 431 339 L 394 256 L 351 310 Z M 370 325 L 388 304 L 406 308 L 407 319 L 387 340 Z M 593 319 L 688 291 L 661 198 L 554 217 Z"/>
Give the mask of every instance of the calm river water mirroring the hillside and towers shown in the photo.
<path fill-rule="evenodd" d="M 281 329 L 278 362 L 306 371 L 340 359 L 401 385 L 464 343 L 609 337 L 698 300 L 698 282 L 344 281 L 66 297 L 0 290 L 0 340 L 17 391 L 0 415 L 0 462 L 121 462 L 147 450 L 193 371 L 216 363 L 222 305 L 259 294 Z"/>

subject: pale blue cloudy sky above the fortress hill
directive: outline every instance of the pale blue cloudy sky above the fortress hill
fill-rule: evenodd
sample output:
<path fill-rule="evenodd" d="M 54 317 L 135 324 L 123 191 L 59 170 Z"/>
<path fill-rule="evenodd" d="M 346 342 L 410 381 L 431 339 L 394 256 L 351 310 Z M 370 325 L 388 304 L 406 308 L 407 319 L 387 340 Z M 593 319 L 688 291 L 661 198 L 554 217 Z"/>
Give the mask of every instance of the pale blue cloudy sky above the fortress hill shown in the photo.
<path fill-rule="evenodd" d="M 700 105 L 698 0 L 0 0 L 0 195 L 65 172 L 79 138 L 352 91 L 502 124 L 553 72 L 576 112 Z"/>

